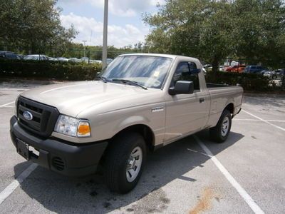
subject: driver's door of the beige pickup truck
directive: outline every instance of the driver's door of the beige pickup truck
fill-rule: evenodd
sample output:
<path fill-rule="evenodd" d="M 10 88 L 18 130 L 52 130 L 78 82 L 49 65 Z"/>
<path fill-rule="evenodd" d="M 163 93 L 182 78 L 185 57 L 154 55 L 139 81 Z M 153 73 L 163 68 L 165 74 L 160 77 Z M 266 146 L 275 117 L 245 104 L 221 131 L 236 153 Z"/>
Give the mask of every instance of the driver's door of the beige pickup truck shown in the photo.
<path fill-rule="evenodd" d="M 195 63 L 182 61 L 178 63 L 172 77 L 170 87 L 176 81 L 193 81 L 194 93 L 177 94 L 166 97 L 165 144 L 204 128 L 209 112 L 207 90 L 200 88 L 199 73 L 191 73 L 197 69 Z"/>

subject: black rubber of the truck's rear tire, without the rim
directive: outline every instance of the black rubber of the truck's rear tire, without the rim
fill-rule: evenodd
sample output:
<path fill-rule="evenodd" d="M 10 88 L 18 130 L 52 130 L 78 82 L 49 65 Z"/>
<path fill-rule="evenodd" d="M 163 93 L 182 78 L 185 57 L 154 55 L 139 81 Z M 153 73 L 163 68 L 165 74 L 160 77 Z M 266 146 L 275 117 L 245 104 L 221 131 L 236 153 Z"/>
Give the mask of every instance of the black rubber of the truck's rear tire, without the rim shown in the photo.
<path fill-rule="evenodd" d="M 225 118 L 228 119 L 229 125 L 227 133 L 222 134 L 222 127 Z M 231 131 L 231 127 L 232 127 L 232 115 L 229 112 L 229 110 L 225 109 L 222 113 L 222 116 L 219 118 L 217 125 L 209 129 L 209 134 L 211 136 L 212 141 L 215 141 L 217 143 L 223 143 L 224 141 L 226 141 L 227 136 L 229 136 L 229 132 Z"/>

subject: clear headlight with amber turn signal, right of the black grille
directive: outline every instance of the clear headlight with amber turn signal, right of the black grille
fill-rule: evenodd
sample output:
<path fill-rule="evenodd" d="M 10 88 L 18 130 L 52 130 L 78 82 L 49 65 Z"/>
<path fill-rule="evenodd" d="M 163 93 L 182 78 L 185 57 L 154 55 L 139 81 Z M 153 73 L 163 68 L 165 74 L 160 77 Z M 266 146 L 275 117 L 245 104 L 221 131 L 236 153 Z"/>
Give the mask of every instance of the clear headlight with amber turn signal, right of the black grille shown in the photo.
<path fill-rule="evenodd" d="M 69 116 L 60 115 L 54 131 L 73 137 L 90 137 L 90 123 L 86 120 L 80 120 Z"/>

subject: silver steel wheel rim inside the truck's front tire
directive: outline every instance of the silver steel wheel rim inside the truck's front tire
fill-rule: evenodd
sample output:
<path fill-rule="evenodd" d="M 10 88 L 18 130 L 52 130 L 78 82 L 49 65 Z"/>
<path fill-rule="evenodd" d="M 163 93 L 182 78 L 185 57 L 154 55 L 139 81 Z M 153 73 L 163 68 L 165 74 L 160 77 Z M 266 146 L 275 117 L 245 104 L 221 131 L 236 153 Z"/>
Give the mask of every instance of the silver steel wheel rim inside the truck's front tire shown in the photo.
<path fill-rule="evenodd" d="M 130 158 L 128 159 L 126 175 L 128 182 L 133 182 L 135 178 L 138 177 L 140 173 L 140 167 L 142 166 L 142 149 L 136 147 L 130 153 Z"/>

